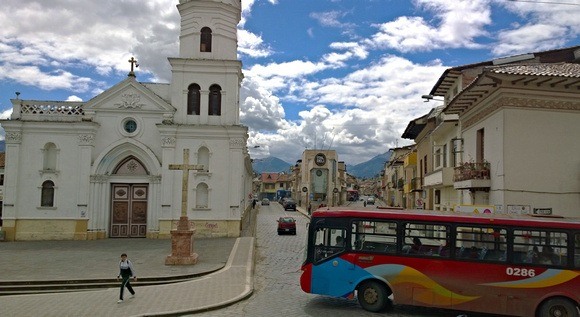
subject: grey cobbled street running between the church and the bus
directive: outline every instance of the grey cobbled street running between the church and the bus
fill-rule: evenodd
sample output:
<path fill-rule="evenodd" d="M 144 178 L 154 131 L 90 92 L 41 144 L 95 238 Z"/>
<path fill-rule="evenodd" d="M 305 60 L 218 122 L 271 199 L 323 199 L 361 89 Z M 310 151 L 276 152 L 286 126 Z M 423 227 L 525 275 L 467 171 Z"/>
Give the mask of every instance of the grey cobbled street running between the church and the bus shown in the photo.
<path fill-rule="evenodd" d="M 362 201 L 353 204 L 362 205 Z M 276 220 L 282 215 L 297 219 L 297 234 L 278 236 Z M 190 316 L 380 316 L 363 310 L 356 300 L 306 294 L 300 289 L 300 265 L 304 257 L 308 218 L 300 212 L 283 211 L 278 203 L 261 206 L 256 227 L 254 293 L 232 306 Z M 458 312 L 397 306 L 384 316 L 457 316 Z M 469 317 L 492 315 L 469 314 Z"/>

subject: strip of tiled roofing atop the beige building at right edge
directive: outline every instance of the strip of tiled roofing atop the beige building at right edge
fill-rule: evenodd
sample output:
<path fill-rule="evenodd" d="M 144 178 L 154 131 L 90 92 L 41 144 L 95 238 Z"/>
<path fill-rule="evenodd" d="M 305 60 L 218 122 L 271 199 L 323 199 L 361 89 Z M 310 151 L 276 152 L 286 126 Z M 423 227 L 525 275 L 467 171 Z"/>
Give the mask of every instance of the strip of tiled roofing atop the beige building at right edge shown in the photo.
<path fill-rule="evenodd" d="M 500 66 L 491 69 L 490 72 L 509 75 L 580 78 L 580 64 L 558 63 Z"/>

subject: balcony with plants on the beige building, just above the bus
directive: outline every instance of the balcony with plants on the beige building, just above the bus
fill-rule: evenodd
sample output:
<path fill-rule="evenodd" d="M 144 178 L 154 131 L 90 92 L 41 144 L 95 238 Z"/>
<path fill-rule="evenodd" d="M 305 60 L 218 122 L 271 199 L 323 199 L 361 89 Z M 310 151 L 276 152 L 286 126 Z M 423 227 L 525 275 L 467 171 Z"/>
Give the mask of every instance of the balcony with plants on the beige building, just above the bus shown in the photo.
<path fill-rule="evenodd" d="M 489 190 L 491 187 L 490 164 L 463 163 L 454 168 L 453 187 L 455 189 Z"/>

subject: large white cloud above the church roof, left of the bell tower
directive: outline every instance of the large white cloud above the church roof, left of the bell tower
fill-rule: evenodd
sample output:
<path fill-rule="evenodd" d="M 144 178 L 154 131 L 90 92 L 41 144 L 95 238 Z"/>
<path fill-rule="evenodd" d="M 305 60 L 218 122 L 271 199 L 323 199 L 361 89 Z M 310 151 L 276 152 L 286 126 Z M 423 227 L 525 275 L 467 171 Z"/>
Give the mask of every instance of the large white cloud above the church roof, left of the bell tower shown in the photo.
<path fill-rule="evenodd" d="M 3 0 L 2 65 L 36 73 L 44 70 L 34 70 L 31 65 L 57 67 L 56 75 L 40 74 L 59 79 L 54 85 L 38 80 L 43 89 L 79 87 L 73 81 L 82 76 L 73 74 L 83 67 L 93 67 L 101 75 L 125 73 L 129 70 L 126 60 L 132 55 L 140 59 L 141 75 L 155 73 L 167 78 L 166 57 L 177 53 L 178 30 L 174 21 L 179 17 L 175 4 L 173 0 L 125 0 L 110 5 L 46 0 L 23 5 L 19 0 Z M 13 58 L 14 55 L 19 57 Z M 70 81 L 65 82 L 67 79 Z M 15 80 L 26 85 L 35 83 L 25 76 Z"/>

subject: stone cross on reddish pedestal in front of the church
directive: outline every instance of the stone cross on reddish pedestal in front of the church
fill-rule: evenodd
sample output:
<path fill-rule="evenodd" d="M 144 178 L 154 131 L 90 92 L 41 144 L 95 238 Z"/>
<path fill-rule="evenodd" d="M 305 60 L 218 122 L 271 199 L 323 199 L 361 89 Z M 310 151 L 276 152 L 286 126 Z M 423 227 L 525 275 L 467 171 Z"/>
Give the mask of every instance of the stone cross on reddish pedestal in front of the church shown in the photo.
<path fill-rule="evenodd" d="M 197 263 L 197 253 L 193 252 L 193 234 L 187 218 L 187 193 L 189 171 L 203 170 L 203 165 L 189 165 L 189 149 L 183 150 L 183 164 L 169 164 L 170 170 L 183 172 L 181 184 L 181 217 L 177 229 L 171 230 L 171 255 L 165 258 L 165 265 L 192 265 Z"/>

